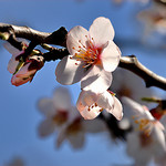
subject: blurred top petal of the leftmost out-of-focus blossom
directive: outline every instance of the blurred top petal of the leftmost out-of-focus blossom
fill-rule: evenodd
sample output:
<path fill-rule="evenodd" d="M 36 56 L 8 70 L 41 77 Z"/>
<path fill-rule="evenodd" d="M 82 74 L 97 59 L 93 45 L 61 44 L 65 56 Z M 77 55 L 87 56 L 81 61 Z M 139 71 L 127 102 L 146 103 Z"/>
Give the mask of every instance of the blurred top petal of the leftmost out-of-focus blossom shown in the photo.
<path fill-rule="evenodd" d="M 56 110 L 70 110 L 71 107 L 71 95 L 68 89 L 58 87 L 54 91 L 53 104 Z"/>

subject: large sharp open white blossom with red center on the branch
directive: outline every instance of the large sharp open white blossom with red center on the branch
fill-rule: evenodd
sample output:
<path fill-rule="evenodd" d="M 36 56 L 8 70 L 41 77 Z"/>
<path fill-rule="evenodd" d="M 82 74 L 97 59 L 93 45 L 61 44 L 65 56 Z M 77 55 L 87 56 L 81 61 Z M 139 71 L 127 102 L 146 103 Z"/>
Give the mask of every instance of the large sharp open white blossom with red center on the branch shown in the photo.
<path fill-rule="evenodd" d="M 66 38 L 70 55 L 55 70 L 58 82 L 70 85 L 81 81 L 82 89 L 96 93 L 107 90 L 121 56 L 113 38 L 112 23 L 103 17 L 95 19 L 89 31 L 74 27 Z"/>

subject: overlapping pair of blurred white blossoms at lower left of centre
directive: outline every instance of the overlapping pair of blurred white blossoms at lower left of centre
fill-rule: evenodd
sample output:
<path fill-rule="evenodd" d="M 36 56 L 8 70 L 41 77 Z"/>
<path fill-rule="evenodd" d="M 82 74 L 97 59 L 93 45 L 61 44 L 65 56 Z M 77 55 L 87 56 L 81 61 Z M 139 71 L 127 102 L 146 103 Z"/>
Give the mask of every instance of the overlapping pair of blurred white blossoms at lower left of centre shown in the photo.
<path fill-rule="evenodd" d="M 73 148 L 81 148 L 84 145 L 85 133 L 106 129 L 101 120 L 84 121 L 76 107 L 72 106 L 70 93 L 64 87 L 56 89 L 53 98 L 40 100 L 39 108 L 45 115 L 45 120 L 39 125 L 39 135 L 45 137 L 56 132 L 56 147 L 66 139 Z"/>

